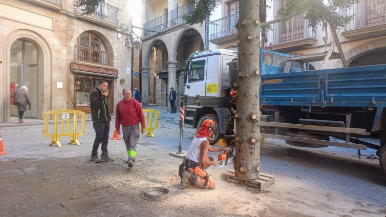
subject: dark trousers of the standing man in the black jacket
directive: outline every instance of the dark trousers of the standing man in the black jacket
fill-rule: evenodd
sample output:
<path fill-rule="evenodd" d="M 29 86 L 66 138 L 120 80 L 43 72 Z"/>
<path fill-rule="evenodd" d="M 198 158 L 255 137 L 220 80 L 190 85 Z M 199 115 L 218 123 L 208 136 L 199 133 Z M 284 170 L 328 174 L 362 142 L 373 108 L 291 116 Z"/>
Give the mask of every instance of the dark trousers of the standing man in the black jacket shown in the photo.
<path fill-rule="evenodd" d="M 99 144 L 102 143 L 102 155 L 108 154 L 107 143 L 109 143 L 110 122 L 94 121 L 95 140 L 92 155 L 98 155 Z"/>

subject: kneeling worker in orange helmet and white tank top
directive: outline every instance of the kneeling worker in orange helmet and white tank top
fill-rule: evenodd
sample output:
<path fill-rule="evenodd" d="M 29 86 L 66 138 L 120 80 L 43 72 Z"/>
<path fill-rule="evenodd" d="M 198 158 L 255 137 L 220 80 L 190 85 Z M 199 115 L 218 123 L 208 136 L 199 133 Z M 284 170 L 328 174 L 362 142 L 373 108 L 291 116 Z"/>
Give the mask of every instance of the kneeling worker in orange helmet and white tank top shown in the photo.
<path fill-rule="evenodd" d="M 186 185 L 191 182 L 197 187 L 205 189 L 215 188 L 215 182 L 208 176 L 205 169 L 210 165 L 217 166 L 219 162 L 212 157 L 208 157 L 208 151 L 229 151 L 230 148 L 216 148 L 209 145 L 207 137 L 212 136 L 215 122 L 206 119 L 202 122 L 200 128 L 191 141 L 186 157 L 180 165 L 179 175 L 181 177 L 181 188 L 185 189 Z"/>

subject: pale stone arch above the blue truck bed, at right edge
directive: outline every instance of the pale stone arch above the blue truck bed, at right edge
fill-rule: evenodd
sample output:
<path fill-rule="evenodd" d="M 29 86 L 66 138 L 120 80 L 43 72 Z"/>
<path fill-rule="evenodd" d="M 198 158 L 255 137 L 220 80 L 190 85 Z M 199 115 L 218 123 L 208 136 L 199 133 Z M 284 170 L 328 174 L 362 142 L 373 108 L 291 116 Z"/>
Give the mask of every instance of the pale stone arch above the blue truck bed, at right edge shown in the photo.
<path fill-rule="evenodd" d="M 378 39 L 363 42 L 362 44 L 354 48 L 351 48 L 350 50 L 345 52 L 347 64 L 350 64 L 354 59 L 358 58 L 359 56 L 362 56 L 363 54 L 370 53 L 384 48 L 386 48 L 385 38 L 378 38 Z M 334 68 L 342 68 L 342 67 L 343 67 L 342 61 L 341 59 L 339 59 L 335 63 Z"/>

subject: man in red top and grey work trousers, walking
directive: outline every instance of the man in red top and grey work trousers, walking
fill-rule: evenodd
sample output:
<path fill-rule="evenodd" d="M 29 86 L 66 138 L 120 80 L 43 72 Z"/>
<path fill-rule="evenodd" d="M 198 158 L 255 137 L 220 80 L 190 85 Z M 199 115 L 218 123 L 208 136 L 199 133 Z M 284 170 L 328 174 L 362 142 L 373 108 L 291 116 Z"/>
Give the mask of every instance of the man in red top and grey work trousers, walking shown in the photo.
<path fill-rule="evenodd" d="M 127 149 L 127 166 L 133 167 L 137 155 L 137 142 L 139 140 L 139 122 L 142 126 L 142 134 L 146 132 L 145 116 L 142 106 L 132 98 L 132 91 L 124 88 L 122 91 L 123 99 L 117 104 L 117 115 L 115 118 L 115 128 L 120 135 L 120 125 L 122 125 L 123 140 Z"/>

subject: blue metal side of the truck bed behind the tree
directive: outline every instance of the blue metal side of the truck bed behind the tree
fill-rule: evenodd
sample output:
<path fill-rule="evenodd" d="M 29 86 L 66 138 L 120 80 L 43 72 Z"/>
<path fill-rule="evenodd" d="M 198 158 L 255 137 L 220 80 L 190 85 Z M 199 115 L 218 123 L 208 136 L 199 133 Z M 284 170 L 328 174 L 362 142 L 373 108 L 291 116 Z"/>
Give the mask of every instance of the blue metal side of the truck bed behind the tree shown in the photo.
<path fill-rule="evenodd" d="M 260 104 L 372 107 L 373 131 L 386 105 L 386 64 L 261 75 Z"/>

